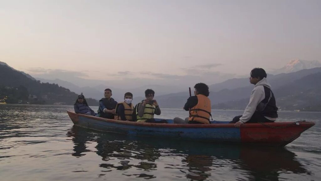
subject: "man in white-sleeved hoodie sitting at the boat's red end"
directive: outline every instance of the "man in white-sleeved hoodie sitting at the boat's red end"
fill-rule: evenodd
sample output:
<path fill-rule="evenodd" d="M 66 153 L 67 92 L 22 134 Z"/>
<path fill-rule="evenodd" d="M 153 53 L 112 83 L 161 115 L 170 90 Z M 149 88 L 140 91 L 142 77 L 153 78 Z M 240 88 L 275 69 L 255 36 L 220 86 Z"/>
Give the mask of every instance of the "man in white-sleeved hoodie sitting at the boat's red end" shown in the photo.
<path fill-rule="evenodd" d="M 250 101 L 243 115 L 236 116 L 230 123 L 239 128 L 244 123 L 274 122 L 278 117 L 274 94 L 266 80 L 266 72 L 262 68 L 254 68 L 250 73 L 250 83 L 254 84 Z"/>

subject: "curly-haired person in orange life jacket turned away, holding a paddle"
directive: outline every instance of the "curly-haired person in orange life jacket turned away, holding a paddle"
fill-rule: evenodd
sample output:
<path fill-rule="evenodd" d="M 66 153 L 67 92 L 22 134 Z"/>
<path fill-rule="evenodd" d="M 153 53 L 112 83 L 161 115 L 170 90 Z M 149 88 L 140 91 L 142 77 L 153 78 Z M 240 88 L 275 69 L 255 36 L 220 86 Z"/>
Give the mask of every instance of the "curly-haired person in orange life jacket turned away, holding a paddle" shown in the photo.
<path fill-rule="evenodd" d="M 189 111 L 189 117 L 184 119 L 174 118 L 174 124 L 210 124 L 211 100 L 208 98 L 210 92 L 204 83 L 194 86 L 194 95 L 187 99 L 184 110 Z"/>

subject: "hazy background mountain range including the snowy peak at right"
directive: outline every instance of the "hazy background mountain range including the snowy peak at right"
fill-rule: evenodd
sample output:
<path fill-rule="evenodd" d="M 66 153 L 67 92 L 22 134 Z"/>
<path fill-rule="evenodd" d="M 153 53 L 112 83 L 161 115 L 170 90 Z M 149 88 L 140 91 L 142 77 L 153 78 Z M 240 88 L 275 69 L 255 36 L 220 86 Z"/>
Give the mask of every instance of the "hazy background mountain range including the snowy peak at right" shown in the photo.
<path fill-rule="evenodd" d="M 317 66 L 319 64 L 317 62 L 310 62 L 309 66 L 312 65 Z M 272 85 L 272 91 L 274 92 L 277 106 L 281 110 L 321 111 L 321 106 L 318 103 L 320 102 L 319 97 L 321 97 L 321 93 L 319 93 L 319 90 L 321 90 L 321 84 L 319 82 L 319 80 L 321 80 L 321 67 L 295 71 L 296 69 L 301 69 L 306 66 L 308 66 L 307 62 L 294 60 L 286 65 L 283 69 L 283 71 L 294 72 L 280 73 L 276 75 L 268 74 L 267 79 Z M 12 68 L 10 69 L 12 71 L 16 71 Z M 25 77 L 29 78 L 23 72 L 16 72 L 19 72 Z M 34 81 L 31 78 L 29 79 Z M 94 87 L 79 87 L 71 82 L 59 79 L 36 79 L 43 82 L 42 84 L 58 84 L 62 88 L 66 87 L 71 92 L 75 92 L 76 94 L 80 94 L 81 92 L 83 92 L 86 98 L 91 97 L 97 100 L 103 97 L 103 91 L 105 88 L 112 89 L 113 97 L 117 101 L 122 101 L 124 93 L 129 91 L 134 94 L 133 103 L 137 103 L 143 100 L 144 90 L 151 88 L 156 92 L 155 99 L 158 101 L 160 106 L 164 108 L 181 108 L 184 106 L 186 100 L 189 97 L 188 88 L 186 88 L 186 91 L 167 94 L 166 92 L 168 92 L 168 89 L 170 89 L 170 87 L 160 85 L 146 85 L 134 89 L 119 89 L 106 87 L 106 85 L 97 85 Z M 38 83 L 40 83 L 39 81 Z M 248 78 L 229 79 L 221 83 L 209 85 L 209 98 L 212 101 L 214 109 L 244 109 L 248 103 L 249 96 L 253 87 L 254 85 L 251 85 L 249 83 Z M 29 88 L 29 90 L 32 89 Z"/>

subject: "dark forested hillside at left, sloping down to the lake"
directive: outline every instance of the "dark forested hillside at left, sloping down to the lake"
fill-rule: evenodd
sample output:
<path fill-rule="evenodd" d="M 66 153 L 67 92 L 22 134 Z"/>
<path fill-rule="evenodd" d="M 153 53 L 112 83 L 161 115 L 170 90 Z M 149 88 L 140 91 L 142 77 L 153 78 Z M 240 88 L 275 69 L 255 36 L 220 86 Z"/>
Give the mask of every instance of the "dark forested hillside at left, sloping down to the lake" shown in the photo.
<path fill-rule="evenodd" d="M 0 64 L 0 102 L 73 105 L 78 95 L 58 84 L 41 83 L 7 64 Z M 98 101 L 88 98 L 88 104 Z"/>

